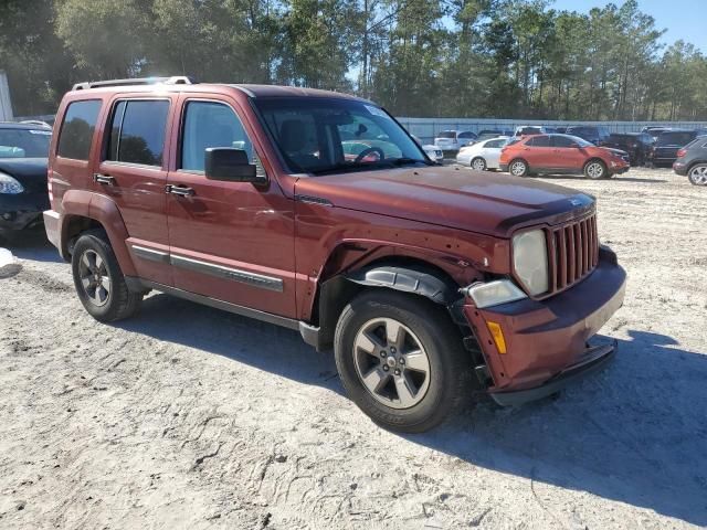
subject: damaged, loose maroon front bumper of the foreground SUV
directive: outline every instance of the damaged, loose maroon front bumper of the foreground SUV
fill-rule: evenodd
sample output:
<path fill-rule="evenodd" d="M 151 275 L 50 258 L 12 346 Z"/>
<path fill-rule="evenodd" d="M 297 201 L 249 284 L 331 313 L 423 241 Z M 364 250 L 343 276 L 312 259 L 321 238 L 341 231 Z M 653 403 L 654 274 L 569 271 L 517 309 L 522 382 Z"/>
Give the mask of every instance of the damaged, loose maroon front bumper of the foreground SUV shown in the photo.
<path fill-rule="evenodd" d="M 464 306 L 493 380 L 497 401 L 521 402 L 557 392 L 611 351 L 588 348 L 589 339 L 623 305 L 626 273 L 602 247 L 594 272 L 570 289 L 544 300 L 526 298 L 477 309 Z M 500 353 L 487 322 L 500 326 L 506 353 Z M 518 393 L 520 392 L 520 393 Z M 502 395 L 513 393 L 514 395 Z"/>

